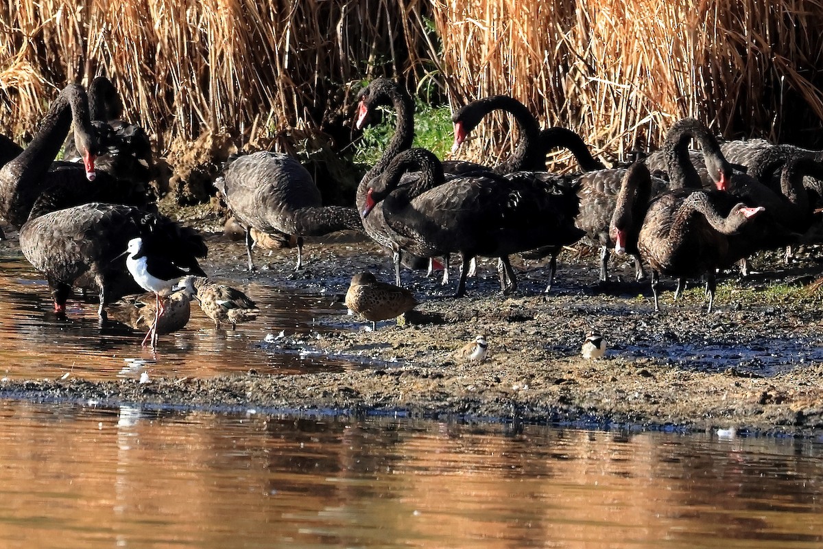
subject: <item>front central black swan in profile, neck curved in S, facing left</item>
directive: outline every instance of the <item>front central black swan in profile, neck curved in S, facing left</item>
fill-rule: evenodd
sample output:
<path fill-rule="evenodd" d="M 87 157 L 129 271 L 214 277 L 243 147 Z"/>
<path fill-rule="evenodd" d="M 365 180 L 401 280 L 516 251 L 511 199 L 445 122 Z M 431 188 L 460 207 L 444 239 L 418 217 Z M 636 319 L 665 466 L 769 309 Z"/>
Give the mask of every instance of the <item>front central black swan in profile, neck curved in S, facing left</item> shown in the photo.
<path fill-rule="evenodd" d="M 547 185 L 530 172 L 505 179 L 494 174 L 442 180 L 439 160 L 430 151 L 398 155 L 389 170 L 370 182 L 364 216 L 382 204 L 388 226 L 408 243 L 463 258 L 457 296 L 464 295 L 470 260 L 501 259 L 504 277 L 514 285 L 509 254 L 547 245 L 573 244 L 584 235 L 574 226 L 579 213 L 577 188 Z M 406 170 L 418 177 L 400 185 Z"/>

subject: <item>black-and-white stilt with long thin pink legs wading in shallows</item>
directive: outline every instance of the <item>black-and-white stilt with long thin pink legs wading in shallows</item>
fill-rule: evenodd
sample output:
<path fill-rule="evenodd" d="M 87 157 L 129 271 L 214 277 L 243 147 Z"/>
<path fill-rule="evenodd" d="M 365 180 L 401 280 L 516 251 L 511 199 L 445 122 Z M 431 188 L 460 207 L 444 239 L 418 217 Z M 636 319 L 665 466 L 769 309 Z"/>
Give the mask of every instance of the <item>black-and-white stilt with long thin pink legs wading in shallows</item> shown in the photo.
<path fill-rule="evenodd" d="M 149 253 L 140 237 L 128 241 L 126 254 L 128 254 L 126 268 L 134 277 L 134 281 L 144 290 L 153 291 L 156 297 L 155 321 L 151 324 L 151 328 L 142 342 L 143 345 L 146 345 L 146 342 L 151 338 L 151 347 L 156 347 L 157 321 L 163 314 L 164 309 L 160 294 L 171 291 L 172 287 L 188 272 L 160 255 Z"/>

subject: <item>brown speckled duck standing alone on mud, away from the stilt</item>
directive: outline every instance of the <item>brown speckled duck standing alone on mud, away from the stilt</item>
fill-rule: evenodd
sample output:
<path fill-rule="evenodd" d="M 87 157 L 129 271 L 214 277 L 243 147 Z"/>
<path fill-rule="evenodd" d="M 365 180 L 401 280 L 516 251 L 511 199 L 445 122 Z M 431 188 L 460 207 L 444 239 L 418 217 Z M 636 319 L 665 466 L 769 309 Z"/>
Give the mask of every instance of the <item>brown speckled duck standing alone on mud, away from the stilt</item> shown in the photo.
<path fill-rule="evenodd" d="M 417 300 L 411 291 L 378 281 L 368 271 L 351 277 L 351 286 L 346 291 L 346 307 L 371 320 L 372 328 L 375 322 L 397 318 L 416 305 Z"/>

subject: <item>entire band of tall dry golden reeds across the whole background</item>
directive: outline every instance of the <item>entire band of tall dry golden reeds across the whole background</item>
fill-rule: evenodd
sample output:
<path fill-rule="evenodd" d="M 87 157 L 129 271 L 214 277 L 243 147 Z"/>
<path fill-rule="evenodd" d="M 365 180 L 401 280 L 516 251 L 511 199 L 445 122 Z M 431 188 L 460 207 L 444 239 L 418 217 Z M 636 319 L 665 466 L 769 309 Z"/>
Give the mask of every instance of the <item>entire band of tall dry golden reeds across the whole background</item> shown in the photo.
<path fill-rule="evenodd" d="M 0 131 L 25 141 L 58 88 L 103 73 L 160 151 L 215 139 L 288 149 L 345 127 L 351 84 L 379 73 L 437 81 L 453 105 L 514 95 L 612 157 L 684 116 L 823 147 L 821 3 L 4 2 Z M 484 128 L 487 157 L 501 138 Z"/>

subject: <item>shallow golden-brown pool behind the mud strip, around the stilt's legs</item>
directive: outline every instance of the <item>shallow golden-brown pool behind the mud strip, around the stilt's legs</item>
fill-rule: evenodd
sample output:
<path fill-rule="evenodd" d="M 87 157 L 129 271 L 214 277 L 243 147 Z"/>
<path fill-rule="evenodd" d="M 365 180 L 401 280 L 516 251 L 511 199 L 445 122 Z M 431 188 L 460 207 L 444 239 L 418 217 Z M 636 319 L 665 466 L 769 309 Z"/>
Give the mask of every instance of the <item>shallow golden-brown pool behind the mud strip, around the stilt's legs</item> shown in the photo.
<path fill-rule="evenodd" d="M 138 378 L 149 375 L 211 376 L 245 372 L 296 373 L 342 370 L 343 361 L 284 354 L 259 346 L 268 334 L 281 331 L 311 337 L 323 328 L 318 314 L 344 314 L 331 297 L 301 295 L 253 282 L 235 285 L 258 302 L 263 314 L 236 331 L 216 329 L 192 305 L 186 328 L 160 336 L 156 352 L 141 347 L 142 334 L 128 328 L 97 325 L 95 296 L 69 300 L 67 319 L 52 313 L 48 287 L 19 250 L 0 250 L 0 378 L 50 378 L 69 373 L 85 379 Z"/>

